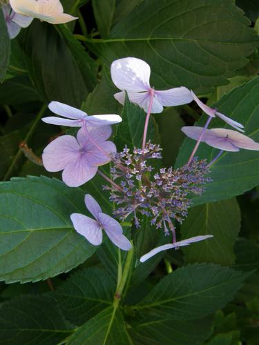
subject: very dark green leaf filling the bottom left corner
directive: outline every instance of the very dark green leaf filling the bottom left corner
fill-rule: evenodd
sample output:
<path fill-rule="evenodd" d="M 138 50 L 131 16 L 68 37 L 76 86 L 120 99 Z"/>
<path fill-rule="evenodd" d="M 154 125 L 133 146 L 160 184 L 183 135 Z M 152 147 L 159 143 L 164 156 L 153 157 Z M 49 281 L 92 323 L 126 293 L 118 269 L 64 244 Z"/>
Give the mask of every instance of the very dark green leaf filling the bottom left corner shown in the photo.
<path fill-rule="evenodd" d="M 0 344 L 57 345 L 73 333 L 55 301 L 23 296 L 0 304 Z"/>

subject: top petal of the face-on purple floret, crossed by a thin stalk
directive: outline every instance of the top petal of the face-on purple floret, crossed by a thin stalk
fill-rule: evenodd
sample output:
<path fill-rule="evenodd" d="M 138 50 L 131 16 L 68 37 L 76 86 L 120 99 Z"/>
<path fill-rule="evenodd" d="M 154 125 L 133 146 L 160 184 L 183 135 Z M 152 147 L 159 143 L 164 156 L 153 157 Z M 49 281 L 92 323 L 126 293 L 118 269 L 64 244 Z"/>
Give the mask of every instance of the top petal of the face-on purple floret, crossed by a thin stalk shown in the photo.
<path fill-rule="evenodd" d="M 92 147 L 94 146 L 93 141 L 88 138 L 88 135 L 96 142 L 103 142 L 109 137 L 111 137 L 112 129 L 111 126 L 102 126 L 102 127 L 92 127 L 87 126 L 87 131 L 84 128 L 80 128 L 77 132 L 77 140 L 81 146 Z"/>

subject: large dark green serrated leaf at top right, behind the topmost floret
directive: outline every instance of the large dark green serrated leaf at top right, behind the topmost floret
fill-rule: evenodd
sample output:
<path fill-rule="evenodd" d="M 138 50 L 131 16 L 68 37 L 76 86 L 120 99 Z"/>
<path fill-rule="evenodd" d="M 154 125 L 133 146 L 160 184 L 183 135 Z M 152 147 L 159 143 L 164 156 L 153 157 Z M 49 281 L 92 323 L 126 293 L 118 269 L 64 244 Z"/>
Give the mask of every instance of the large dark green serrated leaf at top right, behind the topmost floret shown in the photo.
<path fill-rule="evenodd" d="M 106 39 L 86 44 L 108 66 L 119 57 L 144 59 L 157 89 L 204 91 L 227 83 L 247 63 L 258 45 L 249 25 L 229 0 L 145 0 Z"/>

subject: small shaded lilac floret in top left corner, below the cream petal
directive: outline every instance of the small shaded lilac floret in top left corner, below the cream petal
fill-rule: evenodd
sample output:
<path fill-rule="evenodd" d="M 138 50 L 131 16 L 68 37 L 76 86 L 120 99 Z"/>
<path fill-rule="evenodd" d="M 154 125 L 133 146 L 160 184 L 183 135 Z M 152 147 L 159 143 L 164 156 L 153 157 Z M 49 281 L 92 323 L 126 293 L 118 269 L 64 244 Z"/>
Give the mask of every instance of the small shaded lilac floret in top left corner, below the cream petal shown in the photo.
<path fill-rule="evenodd" d="M 2 10 L 3 17 L 6 19 L 6 26 L 10 39 L 17 37 L 21 28 L 27 28 L 33 20 L 31 17 L 16 13 L 9 4 L 3 5 Z"/>

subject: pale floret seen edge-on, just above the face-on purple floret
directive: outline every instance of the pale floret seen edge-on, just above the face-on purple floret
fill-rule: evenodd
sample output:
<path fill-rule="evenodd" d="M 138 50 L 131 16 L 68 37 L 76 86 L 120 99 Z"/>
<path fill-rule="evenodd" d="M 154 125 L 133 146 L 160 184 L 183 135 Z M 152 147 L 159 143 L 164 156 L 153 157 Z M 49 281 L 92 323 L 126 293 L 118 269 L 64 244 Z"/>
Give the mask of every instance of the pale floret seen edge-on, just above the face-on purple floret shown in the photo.
<path fill-rule="evenodd" d="M 122 121 L 122 118 L 115 114 L 88 116 L 86 112 L 82 110 L 57 101 L 49 103 L 48 108 L 52 112 L 55 112 L 55 114 L 61 116 L 50 116 L 42 119 L 42 121 L 52 125 L 68 127 L 82 127 L 84 124 L 89 124 L 91 126 L 107 126 L 118 124 Z M 64 117 L 66 117 L 66 119 L 64 119 Z"/>

